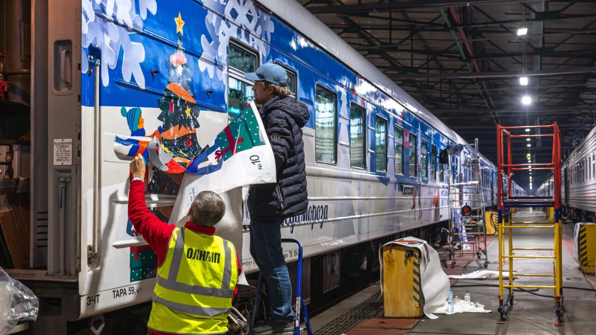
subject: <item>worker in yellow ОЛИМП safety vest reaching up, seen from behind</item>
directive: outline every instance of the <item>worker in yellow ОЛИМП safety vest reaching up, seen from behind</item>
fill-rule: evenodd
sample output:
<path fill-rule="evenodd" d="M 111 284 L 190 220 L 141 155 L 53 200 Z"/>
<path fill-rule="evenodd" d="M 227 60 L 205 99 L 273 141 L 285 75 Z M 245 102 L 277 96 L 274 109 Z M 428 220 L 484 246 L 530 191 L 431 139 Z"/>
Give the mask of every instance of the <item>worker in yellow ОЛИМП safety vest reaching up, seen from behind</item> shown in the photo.
<path fill-rule="evenodd" d="M 211 191 L 199 193 L 184 227 L 166 224 L 145 204 L 145 162 L 131 162 L 128 217 L 157 255 L 157 283 L 148 322 L 150 334 L 224 334 L 237 294 L 240 259 L 230 241 L 215 235 L 225 203 Z"/>

